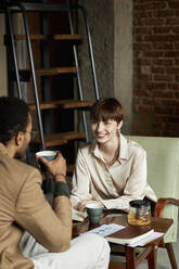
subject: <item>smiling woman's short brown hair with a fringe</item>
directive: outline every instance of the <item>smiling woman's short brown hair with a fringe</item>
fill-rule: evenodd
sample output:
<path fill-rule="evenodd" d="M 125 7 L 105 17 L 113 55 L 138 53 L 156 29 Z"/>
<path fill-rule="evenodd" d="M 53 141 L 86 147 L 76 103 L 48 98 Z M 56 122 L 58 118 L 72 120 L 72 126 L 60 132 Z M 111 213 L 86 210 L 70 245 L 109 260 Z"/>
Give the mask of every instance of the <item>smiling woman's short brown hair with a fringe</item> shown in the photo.
<path fill-rule="evenodd" d="M 91 107 L 90 119 L 95 121 L 114 119 L 119 123 L 124 119 L 122 104 L 115 98 L 100 99 Z"/>

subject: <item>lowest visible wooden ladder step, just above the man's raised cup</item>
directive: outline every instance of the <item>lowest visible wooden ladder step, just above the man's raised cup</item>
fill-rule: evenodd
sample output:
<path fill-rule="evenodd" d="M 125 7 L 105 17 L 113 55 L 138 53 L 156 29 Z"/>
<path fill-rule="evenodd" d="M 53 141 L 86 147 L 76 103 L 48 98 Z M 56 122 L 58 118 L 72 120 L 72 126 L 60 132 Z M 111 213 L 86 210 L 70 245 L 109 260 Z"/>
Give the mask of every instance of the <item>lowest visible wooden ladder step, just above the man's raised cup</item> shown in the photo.
<path fill-rule="evenodd" d="M 76 139 L 85 139 L 85 132 L 61 132 L 61 133 L 52 133 L 49 136 L 44 136 L 44 143 L 46 146 L 54 146 L 54 145 L 63 145 L 66 144 L 68 140 L 76 140 Z M 31 141 L 31 143 L 39 144 L 40 139 L 36 138 Z"/>

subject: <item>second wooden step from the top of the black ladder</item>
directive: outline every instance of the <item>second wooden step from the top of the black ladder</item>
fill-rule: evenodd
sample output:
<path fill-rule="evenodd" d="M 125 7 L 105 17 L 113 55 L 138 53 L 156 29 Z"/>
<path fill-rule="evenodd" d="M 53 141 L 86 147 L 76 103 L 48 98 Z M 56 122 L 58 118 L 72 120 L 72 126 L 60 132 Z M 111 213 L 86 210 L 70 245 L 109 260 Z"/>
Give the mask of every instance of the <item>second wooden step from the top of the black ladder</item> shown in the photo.
<path fill-rule="evenodd" d="M 53 76 L 57 74 L 76 73 L 76 67 L 52 67 L 52 68 L 39 68 L 36 69 L 37 76 Z"/>

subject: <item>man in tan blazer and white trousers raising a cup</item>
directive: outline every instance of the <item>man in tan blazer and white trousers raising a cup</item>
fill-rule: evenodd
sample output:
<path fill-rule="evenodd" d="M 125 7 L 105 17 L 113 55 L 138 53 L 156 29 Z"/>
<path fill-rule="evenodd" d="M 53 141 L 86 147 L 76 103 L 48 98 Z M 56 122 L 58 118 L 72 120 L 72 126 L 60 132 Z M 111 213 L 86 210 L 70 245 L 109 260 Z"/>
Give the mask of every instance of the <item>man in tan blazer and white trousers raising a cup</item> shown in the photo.
<path fill-rule="evenodd" d="M 66 162 L 41 157 L 54 181 L 52 207 L 41 175 L 20 162 L 31 138 L 31 116 L 17 98 L 0 98 L 0 268 L 106 269 L 110 247 L 94 234 L 72 239 Z M 91 258 L 92 257 L 92 258 Z"/>

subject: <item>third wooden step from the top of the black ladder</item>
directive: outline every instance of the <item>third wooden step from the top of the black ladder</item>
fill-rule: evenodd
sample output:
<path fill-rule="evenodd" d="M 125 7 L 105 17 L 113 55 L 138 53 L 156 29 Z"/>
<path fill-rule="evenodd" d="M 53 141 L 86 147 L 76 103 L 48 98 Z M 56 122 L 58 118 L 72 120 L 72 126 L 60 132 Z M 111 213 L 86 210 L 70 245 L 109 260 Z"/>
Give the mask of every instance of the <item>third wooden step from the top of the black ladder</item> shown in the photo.
<path fill-rule="evenodd" d="M 78 100 L 57 100 L 52 102 L 44 102 L 40 104 L 40 110 L 51 110 L 51 108 L 81 108 L 91 107 L 92 102 L 89 101 L 78 101 Z M 36 111 L 36 104 L 28 104 L 30 111 Z"/>

